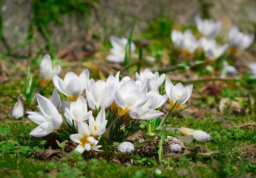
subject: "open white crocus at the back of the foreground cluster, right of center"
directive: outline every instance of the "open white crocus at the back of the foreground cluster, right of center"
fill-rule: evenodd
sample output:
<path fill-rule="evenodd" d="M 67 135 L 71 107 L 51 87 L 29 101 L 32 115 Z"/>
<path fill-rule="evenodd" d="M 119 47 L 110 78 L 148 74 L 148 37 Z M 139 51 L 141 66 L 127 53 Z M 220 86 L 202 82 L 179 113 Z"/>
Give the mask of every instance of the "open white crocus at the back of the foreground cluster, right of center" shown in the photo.
<path fill-rule="evenodd" d="M 159 73 L 152 73 L 150 69 L 145 69 L 144 71 L 137 73 L 136 72 L 136 80 L 140 80 L 144 85 L 148 87 L 148 91 L 157 90 L 159 86 L 161 86 L 165 80 L 165 74 L 162 74 L 159 77 Z"/>

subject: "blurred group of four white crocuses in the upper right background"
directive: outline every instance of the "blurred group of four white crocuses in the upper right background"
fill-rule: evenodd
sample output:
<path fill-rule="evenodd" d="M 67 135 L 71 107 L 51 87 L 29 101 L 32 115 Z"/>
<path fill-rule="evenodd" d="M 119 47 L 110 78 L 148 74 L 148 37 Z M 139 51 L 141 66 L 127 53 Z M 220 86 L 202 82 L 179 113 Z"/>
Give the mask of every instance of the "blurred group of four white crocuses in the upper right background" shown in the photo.
<path fill-rule="evenodd" d="M 203 35 L 198 40 L 193 36 L 190 29 L 187 29 L 184 33 L 175 29 L 172 30 L 171 39 L 181 56 L 186 57 L 197 49 L 199 51 L 202 49 L 204 55 L 210 60 L 222 56 L 229 47 L 227 43 L 220 45 L 215 40 L 215 37 L 220 33 L 222 20 L 214 22 L 213 19 L 201 19 L 200 16 L 196 15 L 195 24 L 198 31 Z M 238 27 L 234 25 L 229 31 L 229 42 L 231 44 L 229 56 L 235 56 L 239 51 L 247 49 L 253 41 L 253 33 L 249 35 L 241 33 Z"/>

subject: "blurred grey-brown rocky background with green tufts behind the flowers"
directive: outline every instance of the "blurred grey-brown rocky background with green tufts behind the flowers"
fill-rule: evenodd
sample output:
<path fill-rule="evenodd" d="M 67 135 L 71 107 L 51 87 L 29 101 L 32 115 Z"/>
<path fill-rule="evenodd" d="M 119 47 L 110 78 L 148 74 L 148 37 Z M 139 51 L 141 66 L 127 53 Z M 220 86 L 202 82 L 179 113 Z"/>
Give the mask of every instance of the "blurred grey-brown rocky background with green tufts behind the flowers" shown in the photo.
<path fill-rule="evenodd" d="M 225 33 L 233 24 L 245 32 L 256 31 L 255 0 L 2 0 L 0 3 L 0 53 L 19 58 L 74 51 L 80 52 L 74 58 L 83 57 L 96 51 L 110 35 L 127 38 L 136 20 L 135 36 L 148 29 L 154 20 L 195 26 L 196 13 L 202 18 L 223 18 Z M 170 34 L 171 29 L 166 30 Z"/>

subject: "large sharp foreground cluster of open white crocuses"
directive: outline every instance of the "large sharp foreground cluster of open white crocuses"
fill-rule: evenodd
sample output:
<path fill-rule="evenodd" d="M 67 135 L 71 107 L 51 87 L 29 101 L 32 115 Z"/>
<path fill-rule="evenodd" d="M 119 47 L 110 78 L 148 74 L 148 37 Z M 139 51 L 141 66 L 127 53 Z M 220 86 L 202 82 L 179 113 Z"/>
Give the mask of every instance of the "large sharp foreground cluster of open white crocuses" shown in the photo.
<path fill-rule="evenodd" d="M 62 129 L 75 131 L 76 134 L 70 135 L 70 139 L 79 144 L 75 151 L 101 151 L 101 145 L 97 145 L 100 137 L 106 131 L 112 130 L 106 129 L 107 125 L 115 127 L 117 121 L 106 119 L 106 114 L 110 117 L 113 115 L 112 118 L 119 119 L 121 123 L 133 119 L 159 118 L 163 115 L 159 108 L 168 98 L 171 100 L 170 108 L 176 103 L 173 109 L 175 111 L 189 99 L 193 87 L 183 87 L 181 83 L 173 85 L 171 80 L 167 79 L 166 94 L 161 95 L 158 89 L 165 80 L 165 74 L 159 76 L 158 72 L 152 73 L 150 69 L 136 73 L 136 80 L 129 76 L 120 80 L 120 72 L 117 72 L 115 76 L 108 76 L 106 81 L 95 82 L 93 78 L 89 79 L 89 75 L 88 69 L 85 69 L 79 76 L 68 72 L 64 80 L 53 76 L 55 89 L 52 98 L 37 94 L 39 111 L 27 112 L 29 119 L 38 124 L 30 132 L 31 136 L 47 136 Z M 61 102 L 58 91 L 70 101 Z M 123 152 L 123 149 L 126 149 L 126 146 L 123 148 L 120 145 L 119 150 Z"/>

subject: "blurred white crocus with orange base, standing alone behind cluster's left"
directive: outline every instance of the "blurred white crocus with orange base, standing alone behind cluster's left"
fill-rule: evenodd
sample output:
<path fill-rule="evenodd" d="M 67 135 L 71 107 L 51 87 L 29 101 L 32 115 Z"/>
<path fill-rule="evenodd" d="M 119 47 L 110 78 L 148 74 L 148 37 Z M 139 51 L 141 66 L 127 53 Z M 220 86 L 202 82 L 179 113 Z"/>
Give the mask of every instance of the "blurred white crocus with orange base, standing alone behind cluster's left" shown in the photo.
<path fill-rule="evenodd" d="M 54 75 L 58 75 L 61 72 L 61 66 L 56 66 L 52 70 L 52 60 L 49 54 L 46 54 L 40 64 L 40 86 L 45 86 L 52 80 Z"/>

